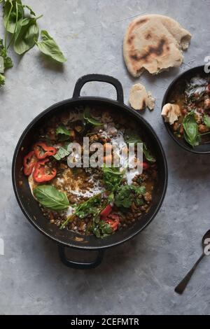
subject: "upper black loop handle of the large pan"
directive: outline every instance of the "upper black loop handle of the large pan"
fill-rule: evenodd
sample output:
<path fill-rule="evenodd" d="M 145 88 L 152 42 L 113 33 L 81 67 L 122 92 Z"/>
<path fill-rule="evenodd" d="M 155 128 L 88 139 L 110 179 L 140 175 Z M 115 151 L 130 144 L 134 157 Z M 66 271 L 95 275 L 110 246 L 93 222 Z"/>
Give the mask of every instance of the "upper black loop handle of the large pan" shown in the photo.
<path fill-rule="evenodd" d="M 104 74 L 87 74 L 87 76 L 82 76 L 79 78 L 73 90 L 73 97 L 80 97 L 80 91 L 83 85 L 91 81 L 110 83 L 116 88 L 118 102 L 124 102 L 123 86 L 121 85 L 120 81 L 116 78 L 113 78 L 113 76 L 105 76 Z"/>

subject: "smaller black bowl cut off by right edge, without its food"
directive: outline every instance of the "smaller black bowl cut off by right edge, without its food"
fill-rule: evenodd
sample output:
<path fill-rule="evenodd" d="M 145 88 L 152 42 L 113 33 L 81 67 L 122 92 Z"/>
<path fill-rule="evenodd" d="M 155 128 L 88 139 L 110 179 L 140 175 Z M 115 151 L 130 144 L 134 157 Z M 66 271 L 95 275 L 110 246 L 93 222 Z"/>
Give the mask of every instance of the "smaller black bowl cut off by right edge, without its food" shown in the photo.
<path fill-rule="evenodd" d="M 202 78 L 207 78 L 210 76 L 210 73 L 205 73 L 204 71 L 204 66 L 197 66 L 194 67 L 193 69 L 189 69 L 188 71 L 181 73 L 180 76 L 175 78 L 172 83 L 169 85 L 165 96 L 162 101 L 162 108 L 165 106 L 165 104 L 169 103 L 170 96 L 172 92 L 174 92 L 174 89 L 178 87 L 178 85 L 181 83 L 182 80 L 190 80 L 191 78 L 194 78 L 196 76 L 201 76 Z M 210 153 L 210 144 L 202 144 L 199 146 L 195 146 L 195 148 L 192 148 L 185 139 L 183 138 L 178 138 L 174 135 L 172 125 L 169 125 L 169 123 L 165 123 L 164 118 L 163 122 L 165 124 L 165 127 L 167 129 L 167 132 L 169 135 L 176 141 L 176 144 L 181 146 L 181 148 L 184 148 L 186 151 L 189 151 L 191 153 L 197 153 L 197 154 L 207 154 Z"/>

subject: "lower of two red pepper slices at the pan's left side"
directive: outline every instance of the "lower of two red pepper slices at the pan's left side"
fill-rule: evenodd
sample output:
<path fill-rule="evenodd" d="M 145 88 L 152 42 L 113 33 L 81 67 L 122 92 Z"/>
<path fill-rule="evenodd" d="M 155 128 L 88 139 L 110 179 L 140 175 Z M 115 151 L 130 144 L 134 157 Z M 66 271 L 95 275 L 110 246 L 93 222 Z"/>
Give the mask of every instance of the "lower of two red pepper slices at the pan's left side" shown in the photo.
<path fill-rule="evenodd" d="M 56 176 L 57 170 L 55 168 L 51 169 L 50 167 L 45 166 L 46 162 L 48 161 L 49 159 L 45 159 L 36 163 L 33 172 L 33 179 L 36 181 L 36 183 L 51 181 L 51 179 L 54 179 Z"/>

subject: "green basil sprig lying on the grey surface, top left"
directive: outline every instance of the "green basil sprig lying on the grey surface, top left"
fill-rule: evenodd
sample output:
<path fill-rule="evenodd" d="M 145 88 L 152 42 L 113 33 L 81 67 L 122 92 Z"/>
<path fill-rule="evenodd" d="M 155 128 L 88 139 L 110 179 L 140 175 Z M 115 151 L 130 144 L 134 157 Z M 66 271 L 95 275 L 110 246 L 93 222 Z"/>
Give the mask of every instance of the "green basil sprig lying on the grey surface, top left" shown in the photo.
<path fill-rule="evenodd" d="M 7 55 L 8 48 L 13 45 L 18 55 L 23 55 L 36 44 L 45 55 L 59 63 L 66 62 L 62 51 L 47 31 L 41 31 L 42 40 L 38 42 L 39 29 L 34 10 L 23 4 L 21 0 L 0 0 L 3 3 L 3 25 L 5 27 L 4 41 L 0 38 L 0 85 L 4 85 L 5 69 L 13 67 L 13 62 Z M 8 34 L 10 36 L 8 37 Z"/>

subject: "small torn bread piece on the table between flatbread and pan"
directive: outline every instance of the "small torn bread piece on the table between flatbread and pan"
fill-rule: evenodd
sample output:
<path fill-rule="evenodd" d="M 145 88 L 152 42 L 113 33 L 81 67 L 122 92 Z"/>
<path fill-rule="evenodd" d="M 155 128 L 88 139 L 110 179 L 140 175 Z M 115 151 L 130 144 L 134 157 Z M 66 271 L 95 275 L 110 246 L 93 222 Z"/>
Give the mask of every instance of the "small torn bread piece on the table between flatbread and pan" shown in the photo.
<path fill-rule="evenodd" d="M 141 83 L 131 87 L 129 102 L 134 110 L 144 110 L 146 107 L 153 110 L 155 107 L 155 98 L 151 92 L 146 91 L 146 87 Z"/>

